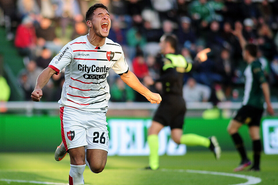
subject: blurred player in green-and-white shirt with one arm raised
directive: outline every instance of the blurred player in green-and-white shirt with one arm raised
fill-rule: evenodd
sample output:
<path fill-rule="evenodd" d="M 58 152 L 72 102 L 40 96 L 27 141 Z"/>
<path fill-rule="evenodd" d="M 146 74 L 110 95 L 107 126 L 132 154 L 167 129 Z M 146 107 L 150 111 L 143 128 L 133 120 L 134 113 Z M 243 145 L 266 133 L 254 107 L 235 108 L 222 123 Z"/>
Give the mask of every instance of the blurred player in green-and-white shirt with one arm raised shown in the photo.
<path fill-rule="evenodd" d="M 242 107 L 237 111 L 237 114 L 230 121 L 227 128 L 241 157 L 241 162 L 234 171 L 242 171 L 247 166 L 251 165 L 251 161 L 246 155 L 242 138 L 238 134 L 238 129 L 243 124 L 248 125 L 249 135 L 253 142 L 253 166 L 249 170 L 259 171 L 261 153 L 260 122 L 264 100 L 266 101 L 267 112 L 273 115 L 274 111 L 270 103 L 268 83 L 261 69 L 261 63 L 256 58 L 257 46 L 254 44 L 247 44 L 242 35 L 242 24 L 240 22 L 235 23 L 233 34 L 238 37 L 242 47 L 243 59 L 247 62 L 247 67 L 244 71 L 246 79 Z"/>

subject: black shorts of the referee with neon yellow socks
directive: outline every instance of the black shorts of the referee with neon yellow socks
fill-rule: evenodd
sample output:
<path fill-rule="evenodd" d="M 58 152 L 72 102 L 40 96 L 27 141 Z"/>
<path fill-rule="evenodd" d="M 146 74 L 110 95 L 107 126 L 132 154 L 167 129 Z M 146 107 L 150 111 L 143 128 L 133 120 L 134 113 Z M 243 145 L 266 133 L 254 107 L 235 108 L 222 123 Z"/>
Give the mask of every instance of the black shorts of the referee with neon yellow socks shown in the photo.
<path fill-rule="evenodd" d="M 170 126 L 171 129 L 182 129 L 185 112 L 185 101 L 182 96 L 165 96 L 153 116 L 153 121 Z"/>

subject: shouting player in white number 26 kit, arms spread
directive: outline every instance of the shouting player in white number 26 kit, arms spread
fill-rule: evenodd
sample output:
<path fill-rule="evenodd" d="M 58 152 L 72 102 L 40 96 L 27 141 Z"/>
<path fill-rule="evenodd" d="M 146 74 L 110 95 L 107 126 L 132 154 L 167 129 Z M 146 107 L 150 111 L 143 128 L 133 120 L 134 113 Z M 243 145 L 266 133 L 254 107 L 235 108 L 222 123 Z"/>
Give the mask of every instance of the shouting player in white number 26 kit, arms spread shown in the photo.
<path fill-rule="evenodd" d="M 108 71 L 113 69 L 131 88 L 151 103 L 160 103 L 159 94 L 143 86 L 128 70 L 122 47 L 106 38 L 111 27 L 107 7 L 95 4 L 85 17 L 89 33 L 72 40 L 38 76 L 32 100 L 40 101 L 42 88 L 50 77 L 65 68 L 60 104 L 63 146 L 70 156 L 69 184 L 84 184 L 83 172 L 103 171 L 107 161 L 106 112 L 110 98 Z M 86 150 L 86 154 L 85 154 Z"/>

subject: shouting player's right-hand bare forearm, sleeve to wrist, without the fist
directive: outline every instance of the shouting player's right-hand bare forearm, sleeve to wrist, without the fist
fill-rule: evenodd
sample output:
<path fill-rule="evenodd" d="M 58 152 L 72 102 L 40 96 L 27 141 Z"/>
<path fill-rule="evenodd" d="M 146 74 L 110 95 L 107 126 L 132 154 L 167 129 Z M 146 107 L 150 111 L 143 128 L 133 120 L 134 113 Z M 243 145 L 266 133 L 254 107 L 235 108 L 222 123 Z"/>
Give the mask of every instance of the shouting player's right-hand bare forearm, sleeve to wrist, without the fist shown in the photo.
<path fill-rule="evenodd" d="M 141 82 L 138 80 L 138 78 L 131 71 L 129 71 L 127 74 L 124 73 L 121 76 L 121 79 L 129 87 L 136 90 L 141 95 L 143 95 L 145 97 L 150 95 L 151 91 L 148 88 L 146 88 L 145 86 L 143 86 L 143 84 L 141 84 Z"/>

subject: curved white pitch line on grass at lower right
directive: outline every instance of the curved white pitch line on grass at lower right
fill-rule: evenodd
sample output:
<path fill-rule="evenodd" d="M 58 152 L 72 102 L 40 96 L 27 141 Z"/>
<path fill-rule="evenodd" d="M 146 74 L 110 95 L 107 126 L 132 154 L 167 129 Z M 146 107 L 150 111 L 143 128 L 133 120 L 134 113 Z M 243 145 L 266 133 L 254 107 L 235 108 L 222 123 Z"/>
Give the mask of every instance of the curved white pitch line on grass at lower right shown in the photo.
<path fill-rule="evenodd" d="M 228 177 L 238 177 L 242 179 L 246 179 L 247 182 L 240 183 L 240 184 L 231 184 L 231 185 L 252 185 L 252 184 L 258 184 L 261 182 L 261 178 L 259 177 L 253 177 L 249 175 L 241 175 L 241 174 L 235 174 L 235 173 L 224 173 L 224 172 L 215 172 L 215 171 L 202 171 L 202 170 L 169 170 L 169 169 L 161 169 L 162 171 L 177 171 L 177 172 L 187 172 L 187 173 L 201 173 L 201 174 L 211 174 L 211 175 L 222 175 L 222 176 L 228 176 Z"/>

